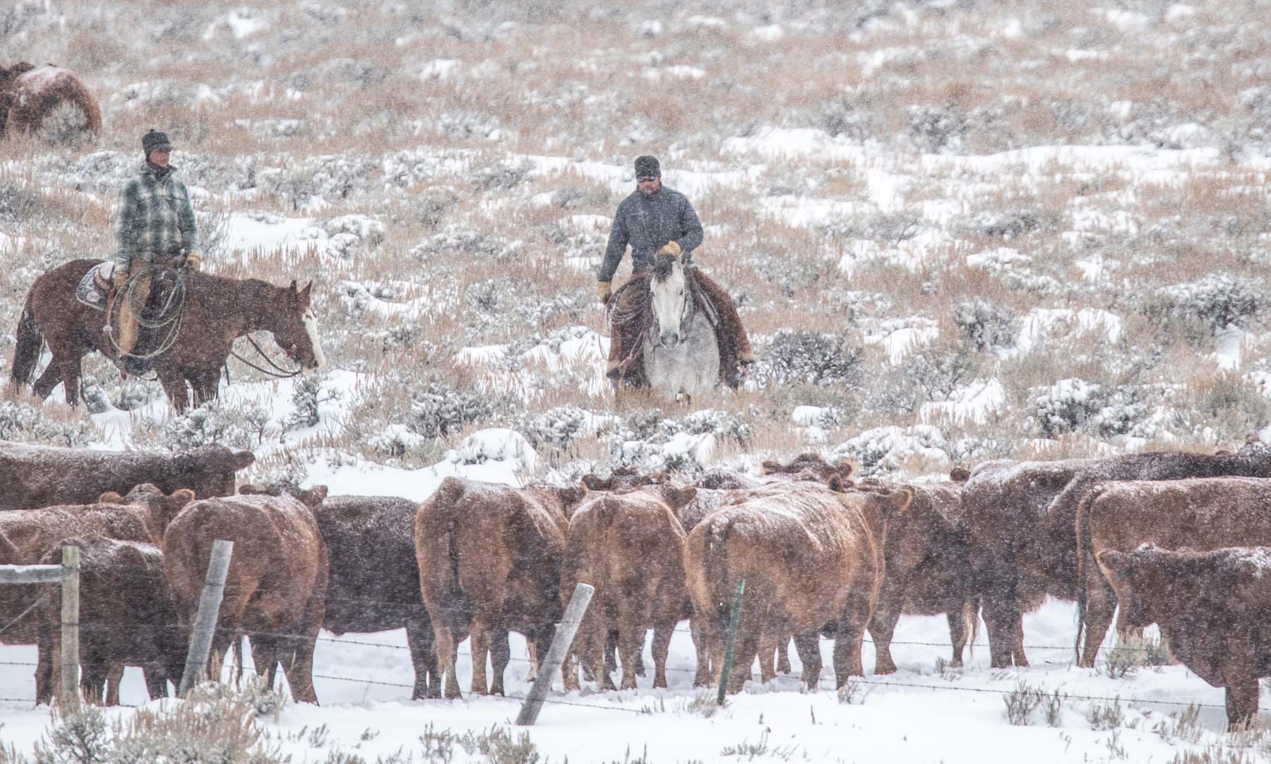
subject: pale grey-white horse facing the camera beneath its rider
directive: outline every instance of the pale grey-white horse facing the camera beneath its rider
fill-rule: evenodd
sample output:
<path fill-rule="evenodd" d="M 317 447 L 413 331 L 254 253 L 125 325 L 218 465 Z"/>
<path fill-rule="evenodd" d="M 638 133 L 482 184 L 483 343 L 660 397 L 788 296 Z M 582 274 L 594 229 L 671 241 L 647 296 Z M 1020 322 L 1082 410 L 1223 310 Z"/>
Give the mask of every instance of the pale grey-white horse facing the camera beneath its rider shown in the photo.
<path fill-rule="evenodd" d="M 710 320 L 698 311 L 683 325 L 691 299 L 686 287 L 679 262 L 665 281 L 649 286 L 658 333 L 644 338 L 644 374 L 649 385 L 671 398 L 702 395 L 719 381 L 719 344 Z M 677 338 L 675 347 L 662 344 L 663 328 Z"/>

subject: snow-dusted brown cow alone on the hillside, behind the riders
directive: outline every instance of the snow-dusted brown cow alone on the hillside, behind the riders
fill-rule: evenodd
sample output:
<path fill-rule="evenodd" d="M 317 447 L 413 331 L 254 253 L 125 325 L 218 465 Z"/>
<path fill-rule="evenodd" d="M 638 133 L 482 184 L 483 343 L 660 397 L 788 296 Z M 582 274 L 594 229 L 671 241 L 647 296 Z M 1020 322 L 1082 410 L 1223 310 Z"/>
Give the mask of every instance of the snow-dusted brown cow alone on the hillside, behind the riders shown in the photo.
<path fill-rule="evenodd" d="M 0 66 L 0 137 L 8 132 L 38 132 L 58 108 L 83 114 L 83 130 L 102 133 L 102 109 L 79 75 L 53 64 L 25 61 Z"/>

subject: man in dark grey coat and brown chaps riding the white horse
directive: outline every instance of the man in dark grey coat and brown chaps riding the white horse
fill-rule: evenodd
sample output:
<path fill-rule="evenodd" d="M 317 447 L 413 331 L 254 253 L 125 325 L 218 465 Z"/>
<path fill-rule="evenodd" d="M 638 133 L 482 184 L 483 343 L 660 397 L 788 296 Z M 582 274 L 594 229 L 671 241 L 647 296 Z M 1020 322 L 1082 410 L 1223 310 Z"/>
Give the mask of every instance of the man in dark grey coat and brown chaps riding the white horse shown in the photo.
<path fill-rule="evenodd" d="M 679 257 L 685 268 L 693 266 L 693 250 L 702 244 L 702 222 L 693 205 L 679 191 L 662 186 L 662 170 L 653 156 L 636 158 L 636 191 L 618 205 L 614 224 L 609 230 L 605 259 L 597 272 L 600 301 L 609 304 L 613 296 L 614 272 L 627 247 L 632 248 L 632 273 L 639 275 L 653 267 L 656 256 Z M 693 277 L 703 287 L 705 296 L 718 315 L 714 325 L 719 344 L 719 372 L 723 381 L 736 386 L 738 367 L 752 364 L 755 353 L 737 315 L 737 305 L 718 283 L 702 271 L 693 268 Z M 647 291 L 619 290 L 618 304 L 610 308 L 610 317 L 638 313 L 637 300 L 647 300 Z M 609 342 L 609 362 L 605 375 L 619 379 L 627 375 L 627 366 L 639 353 L 641 338 L 630 337 L 629 327 L 619 325 L 615 318 Z"/>

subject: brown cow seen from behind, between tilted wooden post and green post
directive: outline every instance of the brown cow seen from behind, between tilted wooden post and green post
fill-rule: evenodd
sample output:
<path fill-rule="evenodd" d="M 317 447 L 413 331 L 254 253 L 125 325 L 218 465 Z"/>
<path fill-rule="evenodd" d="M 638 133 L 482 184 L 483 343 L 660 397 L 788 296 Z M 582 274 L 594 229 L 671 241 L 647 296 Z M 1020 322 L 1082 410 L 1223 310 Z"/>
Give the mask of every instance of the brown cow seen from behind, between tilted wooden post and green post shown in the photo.
<path fill-rule="evenodd" d="M 623 657 L 622 688 L 634 689 L 644 633 L 651 628 L 653 686 L 666 686 L 671 634 L 676 623 L 691 615 L 684 586 L 685 534 L 671 507 L 689 503 L 695 495 L 691 486 L 606 493 L 582 503 L 569 519 L 561 600 L 567 606 L 580 582 L 596 589 L 577 653 L 602 690 L 614 689 L 605 656 L 610 633 L 616 633 Z"/>

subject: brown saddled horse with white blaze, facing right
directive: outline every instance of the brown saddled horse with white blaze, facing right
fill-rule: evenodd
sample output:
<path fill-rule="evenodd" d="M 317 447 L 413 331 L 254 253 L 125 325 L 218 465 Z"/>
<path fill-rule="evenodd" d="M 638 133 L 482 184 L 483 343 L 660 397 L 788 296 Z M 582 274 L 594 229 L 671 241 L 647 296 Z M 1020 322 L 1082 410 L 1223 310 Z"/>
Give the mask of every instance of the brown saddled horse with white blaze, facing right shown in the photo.
<path fill-rule="evenodd" d="M 71 261 L 36 278 L 27 292 L 27 304 L 18 322 L 18 339 L 13 352 L 10 380 L 20 389 L 31 380 L 39 361 L 43 342 L 48 343 L 52 360 L 32 386 L 41 399 L 48 398 L 58 383 L 66 385 L 66 402 L 79 403 L 80 358 L 100 351 L 109 358 L 117 355 L 103 310 L 89 308 L 75 299 L 75 287 L 89 268 L 102 261 Z M 296 364 L 305 369 L 323 365 L 318 342 L 318 318 L 309 308 L 309 291 L 291 286 L 273 286 L 257 278 L 224 278 L 208 273 L 184 275 L 184 314 L 173 337 L 172 347 L 155 360 L 155 372 L 168 400 L 184 411 L 189 406 L 189 388 L 194 406 L 216 398 L 221 370 L 234 341 L 250 332 L 266 331 Z"/>

